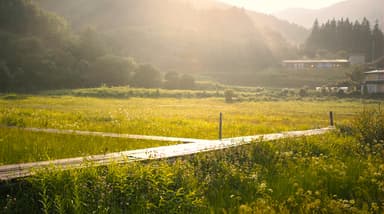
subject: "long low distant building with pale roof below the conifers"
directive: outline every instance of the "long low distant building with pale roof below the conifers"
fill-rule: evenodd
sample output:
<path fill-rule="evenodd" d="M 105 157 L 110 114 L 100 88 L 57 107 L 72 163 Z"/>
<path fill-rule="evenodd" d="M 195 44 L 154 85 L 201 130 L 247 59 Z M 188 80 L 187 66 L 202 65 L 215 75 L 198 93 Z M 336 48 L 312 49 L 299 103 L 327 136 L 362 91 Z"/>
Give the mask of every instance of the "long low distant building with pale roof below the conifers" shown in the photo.
<path fill-rule="evenodd" d="M 347 59 L 283 60 L 282 63 L 283 67 L 295 70 L 345 68 L 350 65 Z"/>

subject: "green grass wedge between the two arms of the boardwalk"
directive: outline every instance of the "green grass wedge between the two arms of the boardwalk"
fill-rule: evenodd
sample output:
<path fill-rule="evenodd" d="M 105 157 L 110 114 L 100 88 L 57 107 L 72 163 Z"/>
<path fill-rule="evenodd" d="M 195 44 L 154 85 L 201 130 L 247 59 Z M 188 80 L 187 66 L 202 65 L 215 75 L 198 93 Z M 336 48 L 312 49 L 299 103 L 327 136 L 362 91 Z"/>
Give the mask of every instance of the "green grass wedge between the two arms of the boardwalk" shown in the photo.
<path fill-rule="evenodd" d="M 106 154 L 171 144 L 175 142 L 35 133 L 0 127 L 0 165 Z"/>

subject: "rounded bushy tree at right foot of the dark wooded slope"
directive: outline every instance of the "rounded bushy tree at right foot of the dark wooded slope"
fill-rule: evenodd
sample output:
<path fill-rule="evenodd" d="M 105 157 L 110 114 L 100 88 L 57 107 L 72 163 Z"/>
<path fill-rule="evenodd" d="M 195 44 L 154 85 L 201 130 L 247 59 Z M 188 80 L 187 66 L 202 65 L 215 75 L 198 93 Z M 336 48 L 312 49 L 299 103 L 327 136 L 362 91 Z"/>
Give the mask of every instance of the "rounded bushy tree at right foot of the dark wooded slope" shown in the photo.
<path fill-rule="evenodd" d="M 161 85 L 161 74 L 152 65 L 140 65 L 133 76 L 132 85 L 143 88 L 157 88 Z"/>

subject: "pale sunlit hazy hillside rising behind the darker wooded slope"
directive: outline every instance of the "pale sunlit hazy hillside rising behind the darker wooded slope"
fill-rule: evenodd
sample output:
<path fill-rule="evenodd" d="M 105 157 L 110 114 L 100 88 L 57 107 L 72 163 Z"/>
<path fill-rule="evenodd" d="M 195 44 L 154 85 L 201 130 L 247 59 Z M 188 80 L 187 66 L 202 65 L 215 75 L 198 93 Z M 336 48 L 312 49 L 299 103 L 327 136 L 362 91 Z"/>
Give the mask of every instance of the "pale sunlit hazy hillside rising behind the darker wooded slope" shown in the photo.
<path fill-rule="evenodd" d="M 278 32 L 258 28 L 262 23 L 255 24 L 245 10 L 213 3 L 199 9 L 190 2 L 42 0 L 41 5 L 75 29 L 94 26 L 116 50 L 162 70 L 254 72 L 278 63 L 290 49 Z"/>

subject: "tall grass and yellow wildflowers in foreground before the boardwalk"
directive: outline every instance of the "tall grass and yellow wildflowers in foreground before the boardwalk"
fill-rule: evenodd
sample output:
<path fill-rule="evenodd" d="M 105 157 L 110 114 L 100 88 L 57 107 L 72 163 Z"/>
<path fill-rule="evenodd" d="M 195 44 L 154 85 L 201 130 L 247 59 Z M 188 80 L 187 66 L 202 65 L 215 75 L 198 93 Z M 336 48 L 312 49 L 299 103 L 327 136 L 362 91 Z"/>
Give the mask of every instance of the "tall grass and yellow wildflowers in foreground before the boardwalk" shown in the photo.
<path fill-rule="evenodd" d="M 337 133 L 128 165 L 42 171 L 4 213 L 380 213 L 384 160 Z M 8 195 L 8 196 L 7 196 Z"/>

